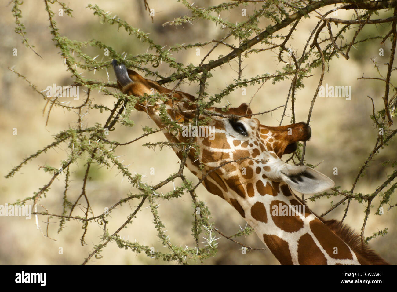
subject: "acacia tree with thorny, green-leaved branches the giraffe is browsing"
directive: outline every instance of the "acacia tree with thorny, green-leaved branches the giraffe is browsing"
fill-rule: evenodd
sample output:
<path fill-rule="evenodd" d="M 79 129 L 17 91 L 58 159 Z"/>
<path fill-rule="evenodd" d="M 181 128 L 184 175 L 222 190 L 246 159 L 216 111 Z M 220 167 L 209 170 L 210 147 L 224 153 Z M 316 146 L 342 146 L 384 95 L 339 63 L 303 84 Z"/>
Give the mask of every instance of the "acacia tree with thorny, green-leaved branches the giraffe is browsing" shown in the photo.
<path fill-rule="evenodd" d="M 143 4 L 147 10 L 148 16 L 153 17 L 152 9 L 150 8 L 150 1 L 143 0 Z M 34 50 L 33 45 L 28 40 L 25 26 L 22 22 L 21 5 L 23 2 L 18 0 L 12 1 L 12 13 L 15 18 L 15 32 L 20 35 L 22 43 L 27 47 Z M 254 86 L 256 84 L 263 85 L 266 81 L 270 80 L 273 83 L 290 80 L 290 86 L 288 94 L 285 98 L 285 103 L 282 106 L 283 112 L 280 117 L 280 125 L 287 118 L 287 111 L 291 110 L 290 122 L 295 123 L 295 107 L 297 91 L 303 89 L 304 83 L 308 80 L 307 77 L 316 79 L 318 86 L 313 92 L 313 98 L 310 105 L 300 105 L 308 107 L 307 123 L 310 123 L 310 116 L 315 106 L 316 97 L 324 93 L 323 79 L 326 75 L 327 67 L 330 66 L 330 61 L 333 58 L 345 58 L 349 59 L 351 48 L 358 43 L 371 43 L 371 44 L 384 44 L 390 45 L 390 56 L 389 60 L 385 64 L 374 62 L 374 68 L 378 75 L 362 76 L 362 79 L 375 79 L 379 82 L 384 83 L 384 96 L 382 108 L 376 108 L 372 97 L 369 97 L 372 101 L 373 110 L 371 118 L 374 121 L 379 135 L 374 141 L 374 148 L 368 154 L 368 157 L 362 163 L 360 170 L 357 173 L 356 178 L 352 182 L 351 189 L 343 190 L 339 186 L 335 186 L 331 191 L 314 195 L 309 198 L 305 198 L 302 195 L 301 201 L 315 201 L 324 197 L 330 198 L 335 197 L 338 201 L 332 204 L 330 209 L 325 211 L 321 216 L 325 216 L 335 208 L 341 208 L 345 206 L 345 212 L 342 221 L 348 215 L 349 206 L 353 203 L 365 204 L 366 212 L 363 218 L 362 229 L 360 236 L 362 244 L 368 242 L 368 240 L 387 233 L 387 228 L 380 230 L 372 236 L 364 236 L 365 226 L 369 214 L 375 213 L 376 215 L 383 214 L 383 207 L 389 205 L 388 209 L 395 207 L 392 205 L 391 199 L 397 187 L 397 182 L 393 181 L 397 177 L 397 170 L 394 170 L 392 174 L 387 176 L 384 182 L 375 188 L 372 193 L 363 194 L 355 192 L 355 187 L 363 176 L 366 167 L 369 162 L 393 139 L 397 130 L 393 130 L 393 118 L 397 114 L 397 98 L 396 98 L 396 87 L 391 83 L 393 72 L 396 67 L 393 66 L 395 49 L 397 43 L 397 1 L 394 0 L 378 0 L 378 1 L 358 1 L 358 0 L 322 0 L 322 1 L 301 1 L 301 0 L 274 0 L 274 1 L 262 1 L 262 0 L 231 0 L 230 2 L 224 2 L 216 6 L 202 7 L 193 6 L 191 3 L 182 0 L 180 5 L 187 10 L 187 14 L 183 17 L 175 18 L 164 25 L 180 26 L 186 23 L 193 23 L 199 19 L 216 23 L 222 26 L 224 29 L 224 35 L 221 39 L 206 40 L 199 43 L 191 44 L 175 44 L 167 49 L 163 48 L 160 44 L 156 43 L 156 40 L 150 39 L 145 31 L 142 31 L 138 27 L 133 27 L 127 23 L 127 21 L 121 19 L 117 15 L 112 15 L 109 12 L 105 12 L 97 5 L 87 6 L 88 10 L 98 17 L 98 20 L 106 25 L 116 25 L 118 29 L 125 30 L 131 39 L 134 41 L 140 41 L 142 44 L 148 46 L 148 51 L 144 54 L 129 55 L 119 54 L 112 48 L 111 44 L 102 43 L 95 39 L 89 41 L 76 41 L 69 39 L 68 37 L 60 34 L 56 21 L 56 13 L 58 9 L 62 10 L 63 13 L 69 17 L 73 17 L 73 10 L 66 6 L 62 2 L 57 0 L 44 0 L 44 7 L 48 14 L 49 30 L 52 35 L 54 46 L 59 50 L 63 57 L 64 63 L 66 64 L 67 72 L 71 73 L 74 78 L 74 82 L 69 84 L 71 87 L 81 87 L 87 90 L 87 97 L 84 100 L 79 101 L 78 106 L 70 106 L 59 101 L 59 96 L 62 92 L 53 93 L 53 96 L 48 96 L 45 92 L 39 91 L 37 87 L 29 81 L 29 77 L 26 77 L 23 72 L 15 72 L 18 77 L 24 79 L 34 91 L 42 96 L 45 102 L 45 110 L 48 117 L 50 116 L 51 110 L 55 107 L 62 107 L 67 110 L 75 110 L 79 113 L 79 117 L 75 121 L 77 126 L 71 127 L 59 131 L 54 136 L 54 141 L 50 145 L 43 147 L 36 153 L 22 160 L 22 162 L 14 167 L 7 175 L 6 178 L 12 177 L 18 172 L 24 164 L 31 162 L 39 155 L 44 155 L 46 151 L 57 147 L 58 145 L 64 144 L 67 146 L 67 152 L 65 153 L 65 159 L 60 161 L 59 165 L 45 165 L 41 169 L 50 174 L 48 184 L 39 187 L 38 191 L 33 193 L 31 197 L 20 199 L 15 202 L 15 205 L 25 205 L 33 203 L 33 209 L 36 217 L 57 217 L 59 218 L 59 231 L 67 224 L 69 220 L 78 220 L 83 226 L 83 232 L 81 235 L 81 244 L 85 244 L 85 235 L 89 228 L 89 222 L 98 222 L 103 229 L 103 234 L 100 241 L 94 246 L 92 252 L 87 256 L 83 263 L 87 263 L 93 256 L 100 257 L 102 249 L 106 248 L 109 242 L 116 242 L 120 248 L 129 248 L 133 252 L 141 253 L 144 252 L 148 257 L 156 257 L 164 261 L 177 261 L 178 263 L 189 263 L 194 261 L 202 261 L 208 257 L 212 257 L 216 254 L 216 238 L 215 234 L 218 232 L 222 236 L 225 236 L 229 240 L 240 244 L 232 238 L 238 237 L 244 234 L 251 234 L 252 228 L 245 228 L 241 232 L 234 234 L 233 236 L 226 236 L 220 230 L 216 229 L 211 221 L 210 210 L 199 199 L 195 190 L 199 186 L 200 182 L 191 182 L 187 180 L 183 174 L 185 168 L 185 160 L 180 162 L 179 171 L 176 173 L 170 173 L 169 177 L 158 182 L 154 186 L 149 186 L 142 180 L 140 174 L 132 174 L 129 168 L 122 164 L 118 160 L 115 154 L 115 150 L 119 147 L 128 147 L 131 143 L 135 143 L 139 139 L 156 133 L 162 129 L 154 129 L 148 126 L 144 127 L 144 134 L 136 137 L 132 141 L 110 141 L 108 139 L 109 131 L 117 131 L 120 127 L 135 127 L 134 122 L 130 120 L 131 111 L 134 109 L 134 105 L 140 101 L 140 97 L 123 95 L 120 92 L 115 92 L 113 88 L 117 88 L 116 82 L 102 82 L 96 79 L 87 79 L 78 72 L 83 71 L 100 71 L 106 70 L 111 67 L 112 59 L 122 60 L 127 68 L 135 68 L 145 76 L 156 79 L 158 83 L 169 85 L 176 89 L 184 82 L 190 82 L 191 84 L 198 84 L 197 91 L 197 109 L 200 112 L 204 112 L 205 108 L 213 106 L 216 103 L 224 101 L 225 97 L 231 94 L 235 89 L 240 87 Z M 225 11 L 238 11 L 241 15 L 246 16 L 245 21 L 232 23 L 221 17 Z M 340 19 L 337 16 L 337 12 L 341 10 L 348 10 L 353 12 L 351 19 Z M 249 13 L 248 11 L 252 11 Z M 379 15 L 384 15 L 380 17 Z M 312 27 L 310 34 L 306 41 L 303 42 L 303 49 L 295 50 L 289 48 L 288 43 L 293 38 L 295 31 L 299 28 L 304 18 L 317 17 L 318 21 L 314 27 Z M 270 23 L 263 28 L 263 23 Z M 384 24 L 388 30 L 383 35 L 370 36 L 362 33 L 364 27 Z M 325 32 L 325 37 L 324 37 Z M 216 54 L 216 48 L 225 46 L 230 49 L 230 52 L 225 56 Z M 95 48 L 101 50 L 105 56 L 101 61 L 96 57 L 90 56 L 88 48 Z M 182 50 L 188 50 L 191 48 L 210 48 L 208 53 L 202 57 L 199 64 L 181 64 L 171 56 L 171 53 L 177 54 Z M 249 78 L 242 77 L 243 66 L 242 62 L 244 59 L 259 58 L 260 54 L 265 51 L 272 51 L 276 53 L 275 59 L 278 62 L 283 63 L 285 66 L 283 70 L 264 73 L 262 75 L 251 76 Z M 35 52 L 39 54 L 39 52 Z M 380 50 L 382 56 L 384 53 L 383 49 Z M 226 63 L 235 61 L 233 66 L 236 69 L 236 76 L 233 83 L 225 86 L 219 93 L 210 96 L 206 92 L 208 83 L 211 82 L 212 70 L 218 68 Z M 172 73 L 169 76 L 163 76 L 158 71 L 155 71 L 158 65 L 166 64 L 171 68 Z M 152 66 L 150 66 L 152 64 Z M 320 68 L 320 74 L 313 75 L 312 71 L 315 68 Z M 114 107 L 108 108 L 101 104 L 97 104 L 91 97 L 91 92 L 98 90 L 104 95 L 110 95 L 114 99 Z M 156 101 L 157 99 L 164 99 L 164 96 L 160 94 L 154 94 L 150 96 L 150 99 L 146 101 Z M 254 97 L 252 97 L 254 98 Z M 378 97 L 377 97 L 378 98 Z M 252 101 L 252 99 L 251 99 Z M 227 106 L 226 106 L 227 108 Z M 85 128 L 83 126 L 84 115 L 90 111 L 100 111 L 103 119 L 98 120 L 95 126 Z M 261 113 L 256 113 L 261 114 Z M 178 128 L 171 120 L 165 120 L 167 126 L 172 128 Z M 179 128 L 178 128 L 179 129 Z M 193 142 L 180 143 L 177 145 L 183 149 L 188 149 Z M 146 147 L 158 147 L 163 149 L 164 147 L 172 147 L 173 143 L 168 141 L 159 141 L 156 143 L 146 143 Z M 298 144 L 298 149 L 286 159 L 287 162 L 293 164 L 306 164 L 311 167 L 316 167 L 305 161 L 306 142 Z M 71 166 L 77 163 L 78 159 L 85 161 L 84 167 L 85 174 L 82 182 L 71 181 L 70 169 Z M 396 161 L 388 161 L 389 165 L 393 168 L 396 166 Z M 131 186 L 137 190 L 135 193 L 127 193 L 123 199 L 114 202 L 114 205 L 105 209 L 101 214 L 93 213 L 90 205 L 90 199 L 92 194 L 86 191 L 87 180 L 89 178 L 90 169 L 95 165 L 106 165 L 106 168 L 110 169 L 114 166 L 119 169 L 121 174 L 127 178 Z M 180 180 L 177 180 L 179 178 Z M 64 180 L 64 193 L 62 197 L 63 201 L 63 212 L 56 214 L 51 210 L 47 210 L 40 204 L 45 196 L 52 196 L 50 187 L 56 179 Z M 160 194 L 157 190 L 166 184 L 175 182 L 178 184 L 173 191 L 169 193 Z M 71 184 L 82 184 L 81 194 L 76 200 L 69 200 L 68 189 Z M 181 248 L 173 244 L 168 236 L 164 234 L 164 224 L 160 216 L 158 215 L 158 200 L 159 199 L 178 199 L 183 193 L 188 192 L 191 195 L 192 200 L 192 236 L 195 239 L 196 246 L 194 248 Z M 372 205 L 374 198 L 380 197 L 380 204 L 377 206 Z M 135 224 L 139 221 L 138 215 L 144 202 L 147 202 L 150 206 L 150 210 L 154 217 L 154 229 L 158 233 L 158 238 L 165 245 L 168 246 L 168 252 L 159 252 L 150 249 L 149 246 L 145 246 L 139 242 L 130 242 L 119 236 L 120 230 L 127 226 L 127 224 Z M 110 214 L 117 212 L 117 207 L 131 202 L 135 205 L 134 211 L 127 215 L 125 222 L 119 226 L 116 230 L 110 230 L 108 224 L 110 220 Z M 76 208 L 78 204 L 83 204 L 83 211 Z M 40 211 L 38 207 L 43 207 L 44 211 Z M 197 213 L 197 208 L 200 209 L 200 213 Z M 136 219 L 136 220 L 135 220 Z M 48 219 L 47 219 L 48 220 Z M 48 222 L 48 221 L 47 221 Z M 48 234 L 46 234 L 48 236 Z M 208 238 L 206 243 L 200 243 L 200 237 L 204 236 Z M 240 244 L 244 246 L 243 244 Z M 251 248 L 245 246 L 246 248 Z"/>

